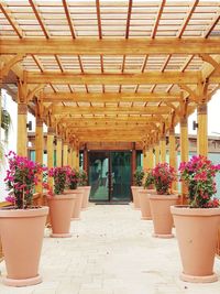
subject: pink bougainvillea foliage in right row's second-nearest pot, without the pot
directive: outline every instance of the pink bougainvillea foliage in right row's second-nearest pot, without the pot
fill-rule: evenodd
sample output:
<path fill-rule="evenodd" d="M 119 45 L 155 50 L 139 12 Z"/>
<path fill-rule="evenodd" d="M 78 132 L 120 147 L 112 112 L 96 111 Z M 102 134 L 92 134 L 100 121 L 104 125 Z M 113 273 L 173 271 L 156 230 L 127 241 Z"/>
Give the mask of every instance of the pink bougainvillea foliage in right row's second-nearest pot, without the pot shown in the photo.
<path fill-rule="evenodd" d="M 172 183 L 176 178 L 176 172 L 174 167 L 167 163 L 158 163 L 153 170 L 152 175 L 154 177 L 154 185 L 157 194 L 169 195 Z"/>

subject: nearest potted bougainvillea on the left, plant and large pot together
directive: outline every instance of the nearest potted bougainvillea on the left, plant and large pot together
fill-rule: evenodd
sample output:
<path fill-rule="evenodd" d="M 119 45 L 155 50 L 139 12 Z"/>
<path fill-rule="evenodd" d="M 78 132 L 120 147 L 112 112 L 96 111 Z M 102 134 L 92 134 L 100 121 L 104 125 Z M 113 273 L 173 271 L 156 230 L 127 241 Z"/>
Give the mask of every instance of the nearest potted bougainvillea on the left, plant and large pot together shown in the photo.
<path fill-rule="evenodd" d="M 48 207 L 32 205 L 34 186 L 43 167 L 14 152 L 7 155 L 6 200 L 12 206 L 0 209 L 0 235 L 7 277 L 4 284 L 28 286 L 42 282 L 38 262 Z"/>

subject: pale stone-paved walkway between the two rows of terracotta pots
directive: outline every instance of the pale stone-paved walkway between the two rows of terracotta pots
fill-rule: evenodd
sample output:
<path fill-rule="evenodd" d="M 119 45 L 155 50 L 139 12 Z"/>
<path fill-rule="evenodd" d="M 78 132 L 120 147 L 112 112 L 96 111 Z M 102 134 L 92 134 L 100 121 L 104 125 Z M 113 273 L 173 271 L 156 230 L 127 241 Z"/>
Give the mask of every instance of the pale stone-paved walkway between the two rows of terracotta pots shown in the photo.
<path fill-rule="evenodd" d="M 219 294 L 220 281 L 190 284 L 182 270 L 176 239 L 152 238 L 152 221 L 129 205 L 91 205 L 73 237 L 46 230 L 40 273 L 43 283 L 23 288 L 0 283 L 0 294 Z M 19 254 L 19 252 L 18 252 Z M 0 264 L 6 275 L 4 263 Z M 215 271 L 220 275 L 220 260 Z"/>

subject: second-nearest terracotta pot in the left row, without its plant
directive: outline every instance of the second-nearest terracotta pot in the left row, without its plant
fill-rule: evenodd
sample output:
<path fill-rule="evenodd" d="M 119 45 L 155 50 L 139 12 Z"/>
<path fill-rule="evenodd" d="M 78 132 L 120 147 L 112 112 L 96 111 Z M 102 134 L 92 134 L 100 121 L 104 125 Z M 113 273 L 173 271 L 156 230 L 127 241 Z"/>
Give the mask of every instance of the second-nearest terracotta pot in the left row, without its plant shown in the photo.
<path fill-rule="evenodd" d="M 70 219 L 75 206 L 75 194 L 55 195 L 48 198 L 52 235 L 54 238 L 72 237 Z"/>

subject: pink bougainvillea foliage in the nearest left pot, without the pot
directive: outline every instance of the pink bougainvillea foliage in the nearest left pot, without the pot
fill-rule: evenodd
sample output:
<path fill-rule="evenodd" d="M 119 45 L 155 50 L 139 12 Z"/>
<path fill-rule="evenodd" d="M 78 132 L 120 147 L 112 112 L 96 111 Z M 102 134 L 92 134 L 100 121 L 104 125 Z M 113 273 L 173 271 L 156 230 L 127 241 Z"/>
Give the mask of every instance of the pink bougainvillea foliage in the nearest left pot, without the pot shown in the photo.
<path fill-rule="evenodd" d="M 6 197 L 6 200 L 14 204 L 19 209 L 30 208 L 34 187 L 38 183 L 44 167 L 24 156 L 16 155 L 12 151 L 6 156 L 9 161 L 9 168 L 4 178 L 9 190 L 9 196 Z"/>

